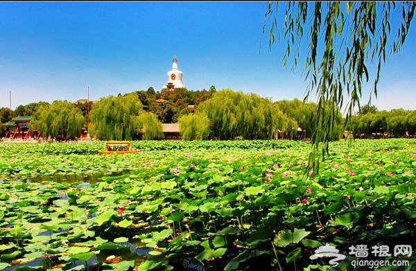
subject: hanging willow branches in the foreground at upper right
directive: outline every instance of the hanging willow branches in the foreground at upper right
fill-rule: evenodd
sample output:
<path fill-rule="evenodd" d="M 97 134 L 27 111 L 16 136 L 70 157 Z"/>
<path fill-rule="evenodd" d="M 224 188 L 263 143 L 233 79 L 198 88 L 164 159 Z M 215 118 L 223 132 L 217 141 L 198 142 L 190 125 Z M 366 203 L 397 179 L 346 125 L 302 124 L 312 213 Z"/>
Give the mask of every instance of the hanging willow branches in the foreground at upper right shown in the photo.
<path fill-rule="evenodd" d="M 268 2 L 263 33 L 269 33 L 270 50 L 276 37 L 286 41 L 284 67 L 291 64 L 295 70 L 305 57 L 304 77 L 310 83 L 305 99 L 312 92 L 318 97 L 312 136 L 314 151 L 309 158 L 309 165 L 318 173 L 320 158 L 328 154 L 327 142 L 332 137 L 337 112 L 346 106 L 349 121 L 353 109 L 359 108 L 363 85 L 370 79 L 369 62 L 376 64 L 372 93 L 377 96 L 381 66 L 404 44 L 416 2 L 302 1 L 285 5 L 284 16 L 278 17 L 278 3 Z M 399 20 L 390 24 L 393 17 Z M 300 50 L 302 41 L 306 42 L 305 55 Z M 322 106 L 327 101 L 338 110 Z M 320 148 L 324 151 L 318 151 Z"/>

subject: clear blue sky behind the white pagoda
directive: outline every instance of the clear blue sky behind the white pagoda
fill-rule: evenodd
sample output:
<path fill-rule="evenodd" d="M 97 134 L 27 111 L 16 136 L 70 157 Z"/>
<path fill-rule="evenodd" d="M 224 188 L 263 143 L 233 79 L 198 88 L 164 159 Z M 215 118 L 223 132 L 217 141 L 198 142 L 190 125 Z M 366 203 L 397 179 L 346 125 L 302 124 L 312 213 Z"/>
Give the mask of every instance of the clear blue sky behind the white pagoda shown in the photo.
<path fill-rule="evenodd" d="M 302 69 L 268 49 L 266 2 L 0 2 L 0 108 L 31 102 L 161 91 L 172 59 L 189 90 L 302 98 Z M 379 110 L 416 110 L 416 25 L 383 66 Z M 300 65 L 302 66 L 302 65 Z M 371 90 L 369 83 L 363 101 Z"/>

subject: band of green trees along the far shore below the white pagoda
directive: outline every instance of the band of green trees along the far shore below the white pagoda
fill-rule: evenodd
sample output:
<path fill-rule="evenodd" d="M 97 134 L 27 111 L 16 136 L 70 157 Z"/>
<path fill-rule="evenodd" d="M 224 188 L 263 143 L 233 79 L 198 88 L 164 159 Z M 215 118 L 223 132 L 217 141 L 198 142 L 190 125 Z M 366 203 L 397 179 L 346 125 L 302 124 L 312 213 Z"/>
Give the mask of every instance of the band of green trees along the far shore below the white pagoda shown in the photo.
<path fill-rule="evenodd" d="M 324 106 L 335 108 L 330 102 Z M 179 123 L 184 140 L 268 140 L 311 138 L 317 108 L 314 102 L 272 102 L 254 93 L 216 91 L 215 86 L 209 91 L 166 88 L 161 92 L 150 87 L 89 103 L 57 100 L 52 104 L 20 105 L 15 111 L 2 108 L 0 119 L 4 124 L 19 115 L 30 115 L 29 128 L 46 138 L 75 139 L 88 125 L 90 136 L 101 140 L 157 140 L 164 138 L 162 123 Z M 331 140 L 342 138 L 346 129 L 354 131 L 356 137 L 412 136 L 416 132 L 416 111 L 377 111 L 375 106 L 365 105 L 347 126 L 340 112 L 335 123 Z M 7 129 L 3 124 L 1 136 Z"/>

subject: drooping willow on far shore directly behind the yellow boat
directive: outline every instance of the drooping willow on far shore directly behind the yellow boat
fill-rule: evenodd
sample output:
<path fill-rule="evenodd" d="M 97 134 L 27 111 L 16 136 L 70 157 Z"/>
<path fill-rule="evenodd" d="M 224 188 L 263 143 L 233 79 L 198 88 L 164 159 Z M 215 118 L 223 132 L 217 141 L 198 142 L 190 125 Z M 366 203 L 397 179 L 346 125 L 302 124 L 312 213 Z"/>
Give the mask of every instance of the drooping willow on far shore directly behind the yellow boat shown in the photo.
<path fill-rule="evenodd" d="M 136 93 L 102 97 L 92 106 L 89 133 L 105 140 L 132 140 L 143 105 Z"/>

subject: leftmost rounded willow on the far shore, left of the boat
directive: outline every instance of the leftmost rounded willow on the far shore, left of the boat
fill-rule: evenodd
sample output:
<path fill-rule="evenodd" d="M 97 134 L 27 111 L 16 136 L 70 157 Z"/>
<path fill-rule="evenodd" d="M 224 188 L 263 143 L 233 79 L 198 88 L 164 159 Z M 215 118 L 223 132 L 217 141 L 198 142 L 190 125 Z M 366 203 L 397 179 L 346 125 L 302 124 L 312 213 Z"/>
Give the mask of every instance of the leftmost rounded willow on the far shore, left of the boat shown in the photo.
<path fill-rule="evenodd" d="M 46 138 L 69 140 L 80 136 L 85 125 L 83 113 L 72 102 L 56 100 L 37 109 L 29 127 Z"/>

